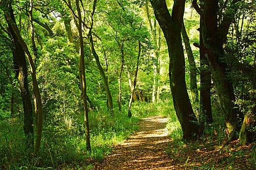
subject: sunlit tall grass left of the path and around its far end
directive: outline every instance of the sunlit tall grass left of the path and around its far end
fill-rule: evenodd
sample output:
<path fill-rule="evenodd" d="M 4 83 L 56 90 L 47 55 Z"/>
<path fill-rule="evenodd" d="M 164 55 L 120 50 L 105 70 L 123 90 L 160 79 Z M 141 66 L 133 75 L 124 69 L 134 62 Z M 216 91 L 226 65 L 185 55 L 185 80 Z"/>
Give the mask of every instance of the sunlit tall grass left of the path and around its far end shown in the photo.
<path fill-rule="evenodd" d="M 57 116 L 45 118 L 39 158 L 34 158 L 33 151 L 27 151 L 24 146 L 23 123 L 20 118 L 0 121 L 0 169 L 61 169 L 61 166 L 75 166 L 81 162 L 89 166 L 89 160 L 102 161 L 104 156 L 111 153 L 114 145 L 124 142 L 139 128 L 138 122 L 141 118 L 149 116 L 169 118 L 167 128 L 170 136 L 182 136 L 171 101 L 154 104 L 135 102 L 131 119 L 128 118 L 126 109 L 122 112 L 115 110 L 115 116 L 112 117 L 106 108 L 100 108 L 89 112 L 91 152 L 88 153 L 83 114 L 62 115 L 56 112 L 48 115 Z"/>

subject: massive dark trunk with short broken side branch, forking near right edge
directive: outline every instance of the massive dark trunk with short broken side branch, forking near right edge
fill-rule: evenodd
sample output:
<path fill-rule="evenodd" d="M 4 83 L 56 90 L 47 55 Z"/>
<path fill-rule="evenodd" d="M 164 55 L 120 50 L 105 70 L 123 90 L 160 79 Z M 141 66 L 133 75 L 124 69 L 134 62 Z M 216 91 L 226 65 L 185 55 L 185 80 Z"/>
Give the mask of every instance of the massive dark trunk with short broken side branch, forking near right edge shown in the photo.
<path fill-rule="evenodd" d="M 238 136 L 238 109 L 235 107 L 235 94 L 232 82 L 227 79 L 227 64 L 221 61 L 225 55 L 223 51 L 223 42 L 226 40 L 230 24 L 235 16 L 235 9 L 238 5 L 238 0 L 233 0 L 231 5 L 234 5 L 234 11 L 223 15 L 220 25 L 217 23 L 218 0 L 204 0 L 201 2 L 201 9 L 198 7 L 196 0 L 193 0 L 193 6 L 200 14 L 202 24 L 200 24 L 202 31 L 203 44 L 200 46 L 197 43 L 194 45 L 200 50 L 203 50 L 208 57 L 209 66 L 213 77 L 213 83 L 217 89 L 222 113 L 225 118 L 225 123 L 229 132 L 229 140 L 235 140 Z"/>

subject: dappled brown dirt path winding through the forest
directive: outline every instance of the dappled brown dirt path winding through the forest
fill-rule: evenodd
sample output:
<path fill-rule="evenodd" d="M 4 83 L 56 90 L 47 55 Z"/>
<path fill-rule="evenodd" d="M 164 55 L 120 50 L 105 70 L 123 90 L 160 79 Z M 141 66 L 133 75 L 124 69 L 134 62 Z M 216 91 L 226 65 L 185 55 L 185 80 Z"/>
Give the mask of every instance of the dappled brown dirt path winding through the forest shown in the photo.
<path fill-rule="evenodd" d="M 168 143 L 168 118 L 154 116 L 140 122 L 140 130 L 124 144 L 113 148 L 95 170 L 170 170 L 170 157 L 165 153 Z"/>

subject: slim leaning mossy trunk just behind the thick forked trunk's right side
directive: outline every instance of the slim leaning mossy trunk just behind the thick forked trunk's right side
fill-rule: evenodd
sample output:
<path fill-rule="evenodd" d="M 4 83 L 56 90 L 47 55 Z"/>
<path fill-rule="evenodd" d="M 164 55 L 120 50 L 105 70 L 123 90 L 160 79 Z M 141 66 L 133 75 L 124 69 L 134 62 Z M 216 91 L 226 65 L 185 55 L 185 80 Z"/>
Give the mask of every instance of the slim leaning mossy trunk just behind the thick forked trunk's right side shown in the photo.
<path fill-rule="evenodd" d="M 193 52 L 190 46 L 189 36 L 186 32 L 184 22 L 182 23 L 181 34 L 183 37 L 185 49 L 186 49 L 186 52 L 189 58 L 189 64 L 190 64 L 190 91 L 191 91 L 192 101 L 198 102 L 198 90 L 197 90 L 197 84 L 196 84 L 196 66 L 194 62 Z"/>

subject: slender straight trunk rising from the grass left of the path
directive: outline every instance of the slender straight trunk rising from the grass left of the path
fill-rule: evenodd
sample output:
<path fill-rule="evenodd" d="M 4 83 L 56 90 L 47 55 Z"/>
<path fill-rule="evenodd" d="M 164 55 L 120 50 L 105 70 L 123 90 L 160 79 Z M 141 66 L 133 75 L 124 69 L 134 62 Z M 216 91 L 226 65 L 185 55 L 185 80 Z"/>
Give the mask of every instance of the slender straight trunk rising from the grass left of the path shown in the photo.
<path fill-rule="evenodd" d="M 96 0 L 94 0 L 94 3 L 93 3 L 92 15 L 94 13 L 95 6 L 96 6 Z M 83 99 L 83 106 L 84 106 L 84 115 L 85 115 L 86 150 L 91 151 L 89 119 L 88 119 L 88 109 L 87 109 L 86 80 L 85 80 L 84 40 L 83 40 L 83 34 L 82 34 L 82 16 L 81 16 L 81 10 L 79 7 L 79 0 L 76 0 L 76 8 L 78 13 L 78 32 L 79 32 L 79 44 L 80 44 L 79 72 L 81 76 L 80 83 L 81 83 L 82 99 Z"/>

